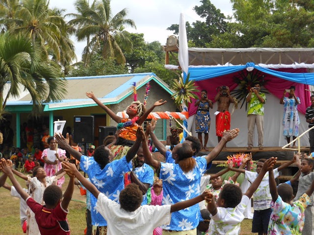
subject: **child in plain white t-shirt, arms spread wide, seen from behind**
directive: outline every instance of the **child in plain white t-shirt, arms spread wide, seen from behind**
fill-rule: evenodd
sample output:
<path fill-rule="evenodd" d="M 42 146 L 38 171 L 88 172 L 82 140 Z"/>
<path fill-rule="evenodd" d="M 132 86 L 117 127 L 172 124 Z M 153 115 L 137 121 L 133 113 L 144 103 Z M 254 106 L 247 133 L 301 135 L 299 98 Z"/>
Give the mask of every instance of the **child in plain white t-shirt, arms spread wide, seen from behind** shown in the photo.
<path fill-rule="evenodd" d="M 97 198 L 96 210 L 108 223 L 107 235 L 152 235 L 156 227 L 170 223 L 171 212 L 183 210 L 209 196 L 205 191 L 202 195 L 172 205 L 141 206 L 143 193 L 138 185 L 132 183 L 120 192 L 119 204 L 108 199 L 104 193 L 86 180 L 74 164 L 63 162 L 62 166 L 69 175 L 75 175 L 79 182 Z"/>

